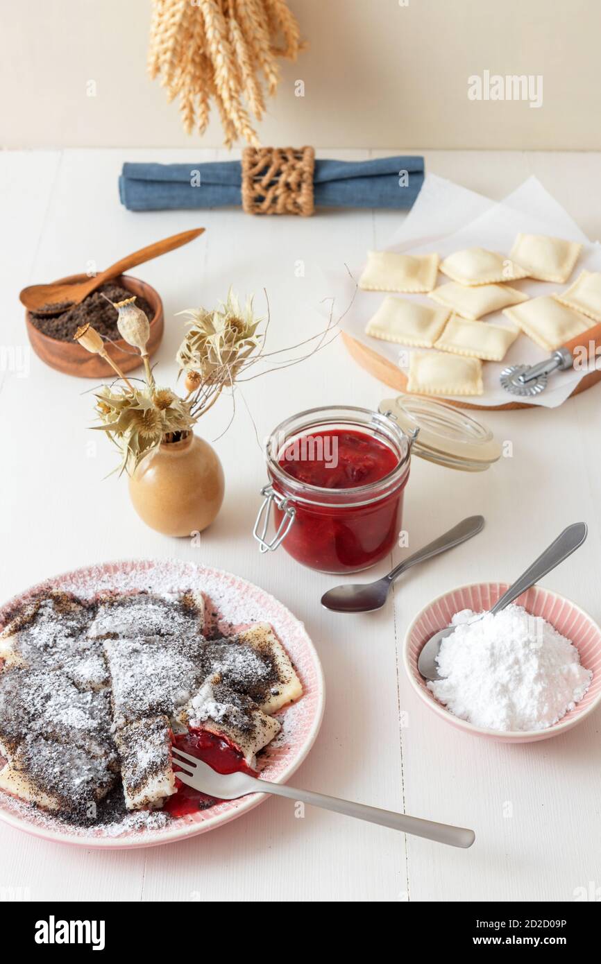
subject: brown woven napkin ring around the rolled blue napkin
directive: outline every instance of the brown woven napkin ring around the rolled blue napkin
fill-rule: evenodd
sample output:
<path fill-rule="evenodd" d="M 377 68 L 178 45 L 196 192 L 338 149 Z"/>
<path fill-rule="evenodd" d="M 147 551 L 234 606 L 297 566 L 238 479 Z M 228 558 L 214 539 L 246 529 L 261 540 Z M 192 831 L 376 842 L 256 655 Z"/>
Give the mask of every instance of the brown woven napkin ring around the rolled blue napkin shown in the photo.
<path fill-rule="evenodd" d="M 313 147 L 245 147 L 242 207 L 247 214 L 314 213 Z"/>

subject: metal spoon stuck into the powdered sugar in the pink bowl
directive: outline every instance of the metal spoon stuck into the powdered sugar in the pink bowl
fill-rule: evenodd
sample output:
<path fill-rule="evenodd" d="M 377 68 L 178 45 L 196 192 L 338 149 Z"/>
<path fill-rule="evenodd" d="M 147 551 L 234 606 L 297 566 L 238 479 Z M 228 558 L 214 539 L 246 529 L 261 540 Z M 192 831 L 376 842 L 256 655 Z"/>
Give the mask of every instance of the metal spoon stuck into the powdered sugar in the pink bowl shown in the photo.
<path fill-rule="evenodd" d="M 538 582 L 538 579 L 546 576 L 552 569 L 559 566 L 560 562 L 567 559 L 568 555 L 571 555 L 572 552 L 575 552 L 576 549 L 582 546 L 587 538 L 587 531 L 585 522 L 574 522 L 572 525 L 568 525 L 566 529 L 563 529 L 563 532 L 560 533 L 557 539 L 554 539 L 551 545 L 534 560 L 532 566 L 529 566 L 521 576 L 518 576 L 501 599 L 499 599 L 488 612 L 492 613 L 493 616 L 501 612 L 502 609 L 505 609 L 505 606 L 513 603 L 518 596 L 521 596 L 522 593 L 530 589 L 535 582 Z M 483 612 L 479 613 L 479 615 L 470 622 L 476 623 L 482 619 L 484 615 L 485 613 Z M 433 636 L 430 636 L 423 646 L 422 652 L 418 657 L 418 669 L 424 680 L 440 679 L 436 657 L 438 656 L 443 639 L 445 639 L 446 636 L 450 636 L 454 630 L 454 626 L 448 626 L 447 629 L 439 629 Z"/>

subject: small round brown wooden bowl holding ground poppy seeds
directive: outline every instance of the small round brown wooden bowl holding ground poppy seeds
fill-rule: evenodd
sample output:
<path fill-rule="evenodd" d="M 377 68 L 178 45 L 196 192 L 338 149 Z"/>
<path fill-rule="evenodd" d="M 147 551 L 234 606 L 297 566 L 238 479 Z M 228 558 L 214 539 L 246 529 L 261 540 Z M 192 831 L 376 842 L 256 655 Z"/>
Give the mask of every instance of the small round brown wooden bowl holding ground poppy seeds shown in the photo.
<path fill-rule="evenodd" d="M 60 281 L 85 281 L 86 277 L 86 275 L 70 275 L 68 278 L 61 278 Z M 149 355 L 152 356 L 161 343 L 164 327 L 163 303 L 158 292 L 146 281 L 132 278 L 131 275 L 120 275 L 111 281 L 123 285 L 127 291 L 131 291 L 132 295 L 146 298 L 150 308 L 152 308 L 148 343 Z M 33 324 L 29 310 L 25 311 L 25 324 L 33 350 L 41 358 L 41 361 L 49 364 L 51 368 L 63 371 L 66 375 L 78 375 L 80 378 L 116 377 L 115 372 L 107 362 L 104 362 L 99 355 L 92 355 L 86 351 L 76 341 L 61 341 L 59 338 L 44 335 Z M 142 364 L 138 352 L 126 341 L 123 341 L 123 338 L 117 338 L 112 344 L 107 341 L 106 351 L 124 372 L 131 371 Z"/>

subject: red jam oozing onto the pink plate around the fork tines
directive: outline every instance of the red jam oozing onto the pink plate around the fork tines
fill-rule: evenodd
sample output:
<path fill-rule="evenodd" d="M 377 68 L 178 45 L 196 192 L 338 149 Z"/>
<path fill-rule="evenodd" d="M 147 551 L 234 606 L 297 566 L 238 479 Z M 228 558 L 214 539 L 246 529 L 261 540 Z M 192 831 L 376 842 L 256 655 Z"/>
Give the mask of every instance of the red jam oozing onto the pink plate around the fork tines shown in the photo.
<path fill-rule="evenodd" d="M 217 773 L 241 771 L 252 777 L 258 776 L 258 773 L 245 763 L 238 748 L 225 736 L 218 736 L 207 730 L 197 730 L 193 727 L 188 733 L 174 736 L 173 743 L 184 753 L 189 753 L 191 757 L 197 757 L 203 763 L 208 763 Z M 207 793 L 188 787 L 187 784 L 178 780 L 178 776 L 176 776 L 176 786 L 177 792 L 167 798 L 163 807 L 163 810 L 172 817 L 194 814 L 219 802 Z"/>

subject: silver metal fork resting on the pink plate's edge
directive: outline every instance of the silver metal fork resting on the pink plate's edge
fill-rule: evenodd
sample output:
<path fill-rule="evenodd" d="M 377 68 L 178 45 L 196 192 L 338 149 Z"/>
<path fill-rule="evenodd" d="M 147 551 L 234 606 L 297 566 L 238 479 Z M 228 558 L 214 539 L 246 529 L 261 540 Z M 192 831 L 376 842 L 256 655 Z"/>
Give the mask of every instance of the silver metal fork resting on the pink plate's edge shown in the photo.
<path fill-rule="evenodd" d="M 251 777 L 247 773 L 227 775 L 217 773 L 207 763 L 191 757 L 177 746 L 172 748 L 172 752 L 174 763 L 180 767 L 176 771 L 179 780 L 188 787 L 199 790 L 201 793 L 208 793 L 209 796 L 219 800 L 235 800 L 247 793 L 275 793 L 276 796 L 287 796 L 291 800 L 300 800 L 303 803 L 313 804 L 314 807 L 323 807 L 325 810 L 334 810 L 337 814 L 346 814 L 347 817 L 359 817 L 361 820 L 392 827 L 393 830 L 414 834 L 416 837 L 425 837 L 426 840 L 437 841 L 439 844 L 468 847 L 476 840 L 474 831 L 465 827 L 453 827 L 449 823 L 434 823 L 432 820 L 422 820 L 419 817 L 407 817 L 406 814 L 396 814 L 392 810 L 368 807 L 365 803 L 341 800 L 336 796 L 324 796 L 323 793 L 314 793 L 313 790 L 295 790 L 286 784 L 268 783 L 266 780 Z"/>

